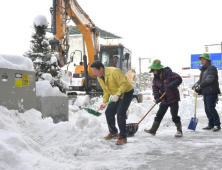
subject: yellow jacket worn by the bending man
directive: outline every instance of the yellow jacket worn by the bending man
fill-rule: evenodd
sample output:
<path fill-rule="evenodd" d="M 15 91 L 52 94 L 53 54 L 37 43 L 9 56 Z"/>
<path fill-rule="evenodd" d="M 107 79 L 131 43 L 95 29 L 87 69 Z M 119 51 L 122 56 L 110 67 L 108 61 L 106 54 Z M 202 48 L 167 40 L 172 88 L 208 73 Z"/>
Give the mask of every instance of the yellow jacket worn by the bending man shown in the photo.
<path fill-rule="evenodd" d="M 110 95 L 121 95 L 133 89 L 132 84 L 120 69 L 115 67 L 104 67 L 105 82 L 97 77 L 99 84 L 103 89 L 103 102 L 109 101 Z"/>

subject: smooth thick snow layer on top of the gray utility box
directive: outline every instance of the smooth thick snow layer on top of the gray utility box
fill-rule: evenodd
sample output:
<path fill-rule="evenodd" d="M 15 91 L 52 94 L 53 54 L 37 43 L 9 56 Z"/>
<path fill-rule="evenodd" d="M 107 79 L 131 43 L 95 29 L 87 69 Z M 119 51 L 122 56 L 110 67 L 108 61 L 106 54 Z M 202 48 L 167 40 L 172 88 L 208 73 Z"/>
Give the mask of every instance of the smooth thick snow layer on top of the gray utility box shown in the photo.
<path fill-rule="evenodd" d="M 0 54 L 0 68 L 34 71 L 31 59 L 17 55 Z"/>

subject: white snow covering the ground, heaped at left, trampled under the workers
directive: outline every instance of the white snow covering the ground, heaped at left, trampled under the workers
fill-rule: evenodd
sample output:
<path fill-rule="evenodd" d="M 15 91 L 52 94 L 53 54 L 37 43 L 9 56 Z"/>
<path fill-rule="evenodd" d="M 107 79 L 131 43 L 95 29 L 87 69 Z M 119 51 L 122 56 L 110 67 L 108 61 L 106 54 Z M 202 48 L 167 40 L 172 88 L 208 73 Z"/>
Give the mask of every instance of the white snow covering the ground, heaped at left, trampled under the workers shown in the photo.
<path fill-rule="evenodd" d="M 92 108 L 98 109 L 102 99 L 90 102 Z M 131 103 L 127 123 L 139 122 L 153 105 L 151 100 Z M 69 121 L 54 124 L 51 118 L 42 119 L 34 109 L 18 113 L 0 106 L 0 169 L 221 169 L 222 131 L 202 130 L 207 125 L 202 98 L 197 101 L 196 131 L 187 129 L 194 114 L 194 98 L 181 99 L 182 138 L 174 137 L 176 127 L 169 111 L 156 136 L 143 131 L 151 127 L 158 107 L 140 123 L 126 145 L 117 146 L 115 140 L 103 139 L 108 134 L 105 110 L 96 117 L 69 105 Z M 221 100 L 217 110 L 221 116 Z"/>

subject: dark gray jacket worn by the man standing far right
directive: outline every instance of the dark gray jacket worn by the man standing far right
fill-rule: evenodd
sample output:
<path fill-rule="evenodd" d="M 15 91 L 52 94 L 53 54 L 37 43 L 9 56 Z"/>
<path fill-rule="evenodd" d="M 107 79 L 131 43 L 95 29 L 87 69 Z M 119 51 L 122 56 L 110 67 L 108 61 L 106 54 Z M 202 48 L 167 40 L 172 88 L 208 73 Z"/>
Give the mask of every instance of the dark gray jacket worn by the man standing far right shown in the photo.
<path fill-rule="evenodd" d="M 220 94 L 217 68 L 211 61 L 199 69 L 200 79 L 197 82 L 202 88 L 202 95 Z"/>

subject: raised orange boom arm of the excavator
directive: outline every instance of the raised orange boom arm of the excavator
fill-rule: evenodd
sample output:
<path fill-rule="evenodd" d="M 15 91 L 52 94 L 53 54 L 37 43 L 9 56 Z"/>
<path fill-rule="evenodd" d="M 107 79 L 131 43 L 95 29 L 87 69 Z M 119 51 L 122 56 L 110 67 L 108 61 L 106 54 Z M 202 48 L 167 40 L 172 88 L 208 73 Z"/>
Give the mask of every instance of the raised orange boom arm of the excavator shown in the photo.
<path fill-rule="evenodd" d="M 57 59 L 60 66 L 67 64 L 69 51 L 69 28 L 67 23 L 72 20 L 81 31 L 87 52 L 89 65 L 98 59 L 98 33 L 95 24 L 90 17 L 80 7 L 77 0 L 53 0 L 52 13 L 52 33 L 53 40 L 50 41 L 51 47 L 58 52 Z M 86 58 L 86 57 L 85 57 Z M 83 68 L 83 63 L 82 66 Z M 94 76 L 91 69 L 88 69 L 90 76 Z"/>

